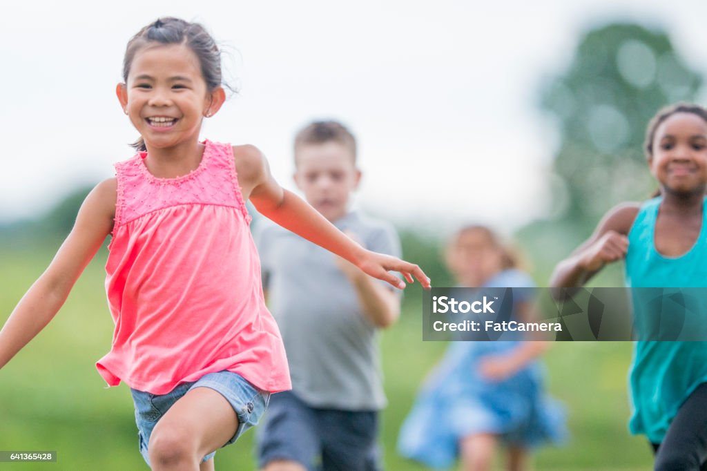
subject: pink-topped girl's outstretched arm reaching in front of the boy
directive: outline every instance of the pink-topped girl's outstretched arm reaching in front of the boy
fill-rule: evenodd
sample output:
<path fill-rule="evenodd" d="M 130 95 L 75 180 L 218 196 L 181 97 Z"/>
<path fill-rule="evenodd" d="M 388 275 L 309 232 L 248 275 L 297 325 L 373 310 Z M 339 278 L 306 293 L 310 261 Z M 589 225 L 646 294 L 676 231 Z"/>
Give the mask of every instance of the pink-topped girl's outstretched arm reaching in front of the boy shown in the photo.
<path fill-rule="evenodd" d="M 235 151 L 234 149 L 234 153 Z M 239 158 L 241 161 L 247 161 L 249 165 L 238 165 Z M 303 199 L 284 190 L 271 175 L 265 157 L 255 147 L 247 146 L 236 159 L 237 167 L 247 169 L 245 173 L 238 169 L 239 180 L 244 186 L 244 196 L 250 196 L 250 201 L 263 216 L 329 252 L 344 257 L 363 272 L 385 280 L 392 286 L 402 289 L 405 284 L 394 274 L 388 273 L 389 271 L 400 272 L 410 283 L 415 277 L 423 287 L 430 286 L 426 274 L 416 264 L 362 248 Z"/>

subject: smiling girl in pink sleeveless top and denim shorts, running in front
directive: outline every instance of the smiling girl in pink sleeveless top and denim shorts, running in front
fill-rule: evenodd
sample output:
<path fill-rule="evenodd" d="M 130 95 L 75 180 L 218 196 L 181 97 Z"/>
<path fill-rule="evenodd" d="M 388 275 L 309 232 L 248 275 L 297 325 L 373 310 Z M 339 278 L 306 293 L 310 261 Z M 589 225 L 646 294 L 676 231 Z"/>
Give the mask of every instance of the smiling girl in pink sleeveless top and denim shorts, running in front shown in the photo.
<path fill-rule="evenodd" d="M 361 248 L 272 178 L 254 146 L 199 141 L 225 100 L 221 57 L 201 25 L 161 18 L 128 43 L 117 97 L 140 133 L 134 157 L 83 202 L 47 270 L 0 331 L 0 367 L 52 320 L 107 236 L 115 333 L 97 363 L 132 392 L 140 450 L 155 470 L 208 470 L 214 450 L 257 423 L 291 387 L 265 307 L 245 202 L 366 274 L 429 280 Z M 306 276 L 303 273 L 303 276 Z"/>

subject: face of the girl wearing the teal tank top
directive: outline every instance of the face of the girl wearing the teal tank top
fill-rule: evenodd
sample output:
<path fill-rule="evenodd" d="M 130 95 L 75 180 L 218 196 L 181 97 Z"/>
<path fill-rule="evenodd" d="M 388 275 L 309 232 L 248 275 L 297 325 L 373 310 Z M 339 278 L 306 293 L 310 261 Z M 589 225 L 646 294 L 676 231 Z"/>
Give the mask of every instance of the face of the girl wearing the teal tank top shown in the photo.
<path fill-rule="evenodd" d="M 707 185 L 707 122 L 694 113 L 667 117 L 655 130 L 648 164 L 666 192 L 703 194 Z"/>

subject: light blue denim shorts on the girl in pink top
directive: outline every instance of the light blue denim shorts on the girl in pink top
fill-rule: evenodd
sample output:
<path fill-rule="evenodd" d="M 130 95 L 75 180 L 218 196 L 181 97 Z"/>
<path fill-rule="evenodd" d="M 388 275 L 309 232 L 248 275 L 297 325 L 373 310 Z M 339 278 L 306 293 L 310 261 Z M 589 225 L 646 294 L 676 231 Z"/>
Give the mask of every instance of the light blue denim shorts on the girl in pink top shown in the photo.
<path fill-rule="evenodd" d="M 201 376 L 199 380 L 191 383 L 180 383 L 176 388 L 164 395 L 152 394 L 151 392 L 130 389 L 133 402 L 135 403 L 135 421 L 138 429 L 138 439 L 140 453 L 147 465 L 150 460 L 147 453 L 147 445 L 150 442 L 150 435 L 155 428 L 160 417 L 162 417 L 172 405 L 194 388 L 210 388 L 219 392 L 230 403 L 235 414 L 238 416 L 238 429 L 228 443 L 230 445 L 238 439 L 250 427 L 255 426 L 262 414 L 267 409 L 270 402 L 270 393 L 261 391 L 250 384 L 243 376 L 231 371 L 218 371 Z M 216 450 L 204 456 L 202 461 L 214 457 Z"/>

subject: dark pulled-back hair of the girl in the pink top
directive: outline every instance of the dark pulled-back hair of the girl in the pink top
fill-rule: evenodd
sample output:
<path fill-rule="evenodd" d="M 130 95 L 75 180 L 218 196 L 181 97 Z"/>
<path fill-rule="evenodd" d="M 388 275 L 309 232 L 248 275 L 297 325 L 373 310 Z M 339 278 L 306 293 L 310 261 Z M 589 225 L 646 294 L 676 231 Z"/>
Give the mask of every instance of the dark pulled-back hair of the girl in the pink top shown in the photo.
<path fill-rule="evenodd" d="M 150 43 L 183 44 L 194 51 L 201 65 L 201 76 L 206 88 L 214 91 L 221 86 L 221 51 L 214 38 L 199 23 L 189 23 L 180 18 L 159 18 L 138 31 L 128 42 L 123 59 L 123 80 L 127 83 L 135 54 Z M 146 151 L 145 141 L 138 139 L 131 144 L 138 151 Z"/>

